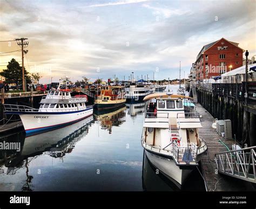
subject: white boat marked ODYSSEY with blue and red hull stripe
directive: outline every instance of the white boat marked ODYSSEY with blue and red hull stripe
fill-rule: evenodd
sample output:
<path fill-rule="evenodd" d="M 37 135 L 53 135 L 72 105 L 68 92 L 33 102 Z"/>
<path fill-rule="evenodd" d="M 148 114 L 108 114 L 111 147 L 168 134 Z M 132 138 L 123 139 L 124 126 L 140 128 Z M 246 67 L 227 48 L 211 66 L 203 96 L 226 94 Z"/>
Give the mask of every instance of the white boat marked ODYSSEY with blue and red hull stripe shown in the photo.
<path fill-rule="evenodd" d="M 93 106 L 86 107 L 86 95 L 71 97 L 69 89 L 50 90 L 41 100 L 39 109 L 4 105 L 5 114 L 18 114 L 26 133 L 55 129 L 78 122 L 93 113 Z"/>

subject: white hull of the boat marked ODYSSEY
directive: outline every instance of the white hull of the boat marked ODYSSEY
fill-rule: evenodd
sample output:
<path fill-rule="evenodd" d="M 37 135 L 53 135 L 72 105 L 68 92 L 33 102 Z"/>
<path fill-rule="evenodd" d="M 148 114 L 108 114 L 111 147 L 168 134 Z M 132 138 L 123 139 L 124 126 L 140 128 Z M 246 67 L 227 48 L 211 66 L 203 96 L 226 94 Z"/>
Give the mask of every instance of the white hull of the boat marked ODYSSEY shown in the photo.
<path fill-rule="evenodd" d="M 93 114 L 93 108 L 78 112 L 19 114 L 26 133 L 55 129 L 76 123 Z"/>

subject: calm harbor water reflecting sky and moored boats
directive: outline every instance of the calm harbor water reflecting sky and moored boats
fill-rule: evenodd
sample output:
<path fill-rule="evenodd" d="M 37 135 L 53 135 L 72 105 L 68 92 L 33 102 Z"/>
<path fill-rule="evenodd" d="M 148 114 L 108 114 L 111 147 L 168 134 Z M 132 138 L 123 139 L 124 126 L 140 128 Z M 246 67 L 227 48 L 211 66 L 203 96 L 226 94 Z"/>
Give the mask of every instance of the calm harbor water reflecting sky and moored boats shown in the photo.
<path fill-rule="evenodd" d="M 0 190 L 178 190 L 163 175 L 156 175 L 144 157 L 143 119 L 143 103 L 126 104 L 47 133 L 2 137 L 1 142 L 21 142 L 22 147 L 19 152 L 0 152 Z M 204 190 L 197 171 L 183 190 Z"/>

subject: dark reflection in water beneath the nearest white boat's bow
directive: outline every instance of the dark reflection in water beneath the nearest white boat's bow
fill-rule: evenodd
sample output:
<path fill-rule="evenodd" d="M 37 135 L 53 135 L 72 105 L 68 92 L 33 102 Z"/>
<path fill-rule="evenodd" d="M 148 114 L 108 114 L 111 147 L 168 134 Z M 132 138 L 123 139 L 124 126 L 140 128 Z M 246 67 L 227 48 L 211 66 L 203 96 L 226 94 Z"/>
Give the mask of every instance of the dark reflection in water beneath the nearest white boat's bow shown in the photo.
<path fill-rule="evenodd" d="M 178 186 L 172 178 L 156 168 L 143 154 L 142 187 L 144 191 L 205 191 L 204 181 L 194 170 L 184 185 Z"/>

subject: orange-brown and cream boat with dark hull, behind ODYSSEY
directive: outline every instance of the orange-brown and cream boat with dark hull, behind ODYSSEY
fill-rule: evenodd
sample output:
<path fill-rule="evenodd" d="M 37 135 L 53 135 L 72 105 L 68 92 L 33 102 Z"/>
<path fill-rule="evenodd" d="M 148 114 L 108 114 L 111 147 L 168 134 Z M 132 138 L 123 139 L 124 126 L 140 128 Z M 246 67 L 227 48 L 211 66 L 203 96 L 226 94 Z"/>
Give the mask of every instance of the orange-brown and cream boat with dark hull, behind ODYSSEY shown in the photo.
<path fill-rule="evenodd" d="M 125 92 L 123 86 L 101 86 L 100 94 L 96 95 L 94 101 L 95 108 L 98 110 L 114 109 L 125 105 Z"/>

